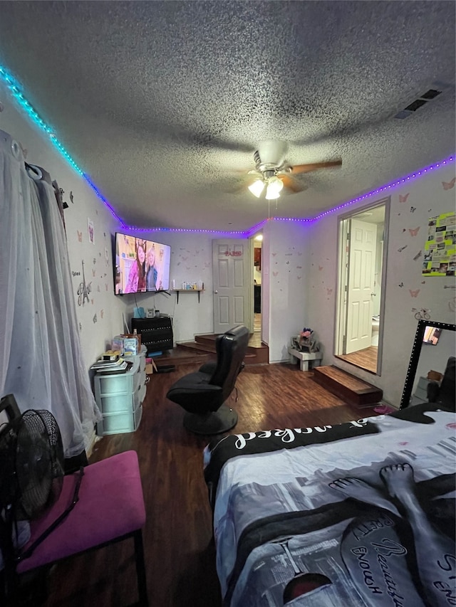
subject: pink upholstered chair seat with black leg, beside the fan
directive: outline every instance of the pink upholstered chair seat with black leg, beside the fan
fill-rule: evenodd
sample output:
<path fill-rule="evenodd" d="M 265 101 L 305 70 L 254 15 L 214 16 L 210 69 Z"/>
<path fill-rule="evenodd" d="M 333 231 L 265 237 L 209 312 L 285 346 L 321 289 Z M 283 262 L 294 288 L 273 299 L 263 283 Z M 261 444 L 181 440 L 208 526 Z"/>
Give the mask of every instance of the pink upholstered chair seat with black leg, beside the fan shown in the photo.
<path fill-rule="evenodd" d="M 24 546 L 22 554 L 66 510 L 73 500 L 78 476 L 78 473 L 65 476 L 56 504 L 41 519 L 31 522 L 31 539 Z M 75 507 L 68 517 L 38 544 L 31 556 L 19 562 L 17 571 L 22 574 L 68 556 L 133 537 L 139 603 L 147 606 L 141 530 L 144 524 L 145 507 L 138 455 L 135 451 L 113 455 L 84 468 L 79 500 Z"/>

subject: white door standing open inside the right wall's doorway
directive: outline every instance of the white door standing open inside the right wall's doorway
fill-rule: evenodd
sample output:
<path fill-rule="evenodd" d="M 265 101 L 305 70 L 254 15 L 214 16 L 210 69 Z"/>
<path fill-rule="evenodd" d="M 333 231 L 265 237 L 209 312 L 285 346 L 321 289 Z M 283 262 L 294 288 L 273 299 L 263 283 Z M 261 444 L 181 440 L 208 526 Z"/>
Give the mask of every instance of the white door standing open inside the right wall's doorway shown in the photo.
<path fill-rule="evenodd" d="M 348 254 L 345 354 L 372 344 L 372 310 L 377 226 L 352 218 Z"/>

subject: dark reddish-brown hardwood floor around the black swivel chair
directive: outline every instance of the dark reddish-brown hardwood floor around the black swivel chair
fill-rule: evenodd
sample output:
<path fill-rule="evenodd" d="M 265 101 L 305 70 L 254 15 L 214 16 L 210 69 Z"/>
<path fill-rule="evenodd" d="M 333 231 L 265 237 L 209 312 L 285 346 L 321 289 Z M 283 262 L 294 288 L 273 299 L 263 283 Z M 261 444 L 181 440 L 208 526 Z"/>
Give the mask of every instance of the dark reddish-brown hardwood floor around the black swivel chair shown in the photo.
<path fill-rule="evenodd" d="M 147 522 L 144 529 L 151 607 L 219 607 L 212 516 L 202 474 L 208 440 L 182 426 L 184 411 L 167 401 L 169 386 L 197 369 L 178 366 L 154 374 L 138 431 L 101 438 L 90 463 L 124 450 L 138 452 Z M 348 406 L 318 386 L 312 371 L 276 364 L 246 367 L 237 380 L 239 413 L 233 433 L 320 426 L 375 415 Z M 138 599 L 133 541 L 61 562 L 49 575 L 46 607 L 127 606 Z M 246 606 L 247 607 L 247 606 Z"/>

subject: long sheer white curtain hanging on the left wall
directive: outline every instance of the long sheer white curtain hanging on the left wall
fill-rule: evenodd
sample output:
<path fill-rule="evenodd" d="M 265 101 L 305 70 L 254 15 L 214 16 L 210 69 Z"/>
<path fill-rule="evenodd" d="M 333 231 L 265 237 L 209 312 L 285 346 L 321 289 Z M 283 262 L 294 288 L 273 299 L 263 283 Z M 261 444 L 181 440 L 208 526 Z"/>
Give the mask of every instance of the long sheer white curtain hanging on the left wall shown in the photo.
<path fill-rule="evenodd" d="M 66 457 L 100 412 L 84 368 L 63 221 L 51 177 L 0 130 L 0 396 L 47 409 Z"/>

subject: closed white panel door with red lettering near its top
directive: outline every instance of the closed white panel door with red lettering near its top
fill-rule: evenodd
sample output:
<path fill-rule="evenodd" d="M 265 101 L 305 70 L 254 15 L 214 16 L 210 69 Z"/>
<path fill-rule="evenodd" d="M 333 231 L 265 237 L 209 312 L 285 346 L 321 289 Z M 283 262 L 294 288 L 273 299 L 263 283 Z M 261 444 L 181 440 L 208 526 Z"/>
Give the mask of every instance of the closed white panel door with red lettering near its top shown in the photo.
<path fill-rule="evenodd" d="M 250 274 L 249 241 L 212 241 L 214 333 L 237 324 L 249 327 Z"/>

